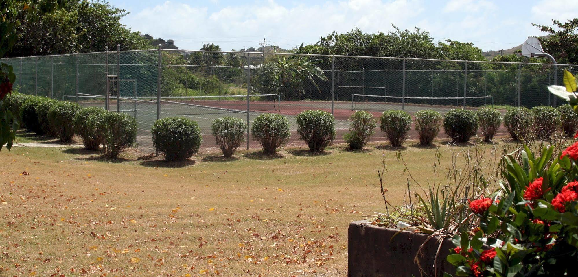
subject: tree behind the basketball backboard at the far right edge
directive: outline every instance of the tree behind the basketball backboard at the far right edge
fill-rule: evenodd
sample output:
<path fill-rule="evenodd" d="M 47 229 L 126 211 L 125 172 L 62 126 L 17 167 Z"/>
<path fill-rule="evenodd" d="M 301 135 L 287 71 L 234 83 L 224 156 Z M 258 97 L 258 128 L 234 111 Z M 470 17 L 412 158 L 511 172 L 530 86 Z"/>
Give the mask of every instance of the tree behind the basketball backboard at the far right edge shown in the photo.
<path fill-rule="evenodd" d="M 555 27 L 532 23 L 532 26 L 548 34 L 538 38 L 544 51 L 554 56 L 558 64 L 576 64 L 578 62 L 578 34 L 576 32 L 578 18 L 569 19 L 565 23 L 552 19 L 552 25 Z"/>

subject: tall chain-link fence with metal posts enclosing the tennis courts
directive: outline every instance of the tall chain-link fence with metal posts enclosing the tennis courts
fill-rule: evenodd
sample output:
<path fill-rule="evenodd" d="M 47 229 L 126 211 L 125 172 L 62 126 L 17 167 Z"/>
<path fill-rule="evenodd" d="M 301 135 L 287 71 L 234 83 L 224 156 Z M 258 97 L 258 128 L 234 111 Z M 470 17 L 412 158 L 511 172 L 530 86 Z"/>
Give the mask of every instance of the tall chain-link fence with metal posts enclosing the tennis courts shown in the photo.
<path fill-rule="evenodd" d="M 155 120 L 187 117 L 199 123 L 204 147 L 214 146 L 211 124 L 223 116 L 251 126 L 261 113 L 281 113 L 298 143 L 295 116 L 310 109 L 331 112 L 341 138 L 354 110 L 379 116 L 388 109 L 556 106 L 560 101 L 546 87 L 561 84 L 564 69 L 578 71 L 576 65 L 161 49 L 2 61 L 13 66 L 21 93 L 133 115 L 144 145 Z"/>

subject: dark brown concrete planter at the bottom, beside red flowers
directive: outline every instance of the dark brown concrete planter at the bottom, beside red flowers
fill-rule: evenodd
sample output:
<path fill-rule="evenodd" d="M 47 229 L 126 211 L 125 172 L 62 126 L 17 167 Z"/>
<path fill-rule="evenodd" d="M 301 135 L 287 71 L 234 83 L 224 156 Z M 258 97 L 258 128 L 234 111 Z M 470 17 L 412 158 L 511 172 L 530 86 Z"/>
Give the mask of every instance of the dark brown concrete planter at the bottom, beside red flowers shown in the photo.
<path fill-rule="evenodd" d="M 443 276 L 444 271 L 455 274 L 454 266 L 446 261 L 449 249 L 454 248 L 451 239 L 443 240 L 437 259 L 435 255 L 440 242 L 436 238 L 429 239 L 420 251 L 418 265 L 414 258 L 429 236 L 409 231 L 395 235 L 397 232 L 398 229 L 373 226 L 368 221 L 350 223 L 347 276 L 433 277 Z M 420 266 L 423 271 L 420 271 Z"/>

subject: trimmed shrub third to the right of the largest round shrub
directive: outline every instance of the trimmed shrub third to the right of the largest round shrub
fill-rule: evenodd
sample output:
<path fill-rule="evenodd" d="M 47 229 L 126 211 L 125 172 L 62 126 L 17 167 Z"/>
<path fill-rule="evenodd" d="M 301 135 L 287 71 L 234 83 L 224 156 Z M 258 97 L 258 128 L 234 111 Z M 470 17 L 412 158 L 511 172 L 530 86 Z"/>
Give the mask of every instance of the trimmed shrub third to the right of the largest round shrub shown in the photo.
<path fill-rule="evenodd" d="M 335 139 L 335 119 L 331 113 L 323 110 L 306 110 L 299 113 L 297 133 L 311 152 L 322 152 Z"/>

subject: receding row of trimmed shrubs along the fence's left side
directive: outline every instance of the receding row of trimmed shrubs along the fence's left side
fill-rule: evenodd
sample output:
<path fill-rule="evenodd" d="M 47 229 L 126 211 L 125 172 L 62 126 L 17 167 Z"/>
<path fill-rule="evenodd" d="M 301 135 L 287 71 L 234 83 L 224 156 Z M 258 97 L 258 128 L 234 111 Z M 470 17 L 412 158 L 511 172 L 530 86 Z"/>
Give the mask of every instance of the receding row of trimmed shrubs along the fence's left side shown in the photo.
<path fill-rule="evenodd" d="M 27 131 L 53 136 L 61 142 L 79 135 L 86 149 L 100 149 L 106 157 L 115 158 L 136 142 L 136 121 L 125 113 L 25 94 L 10 95 L 3 105 Z"/>

